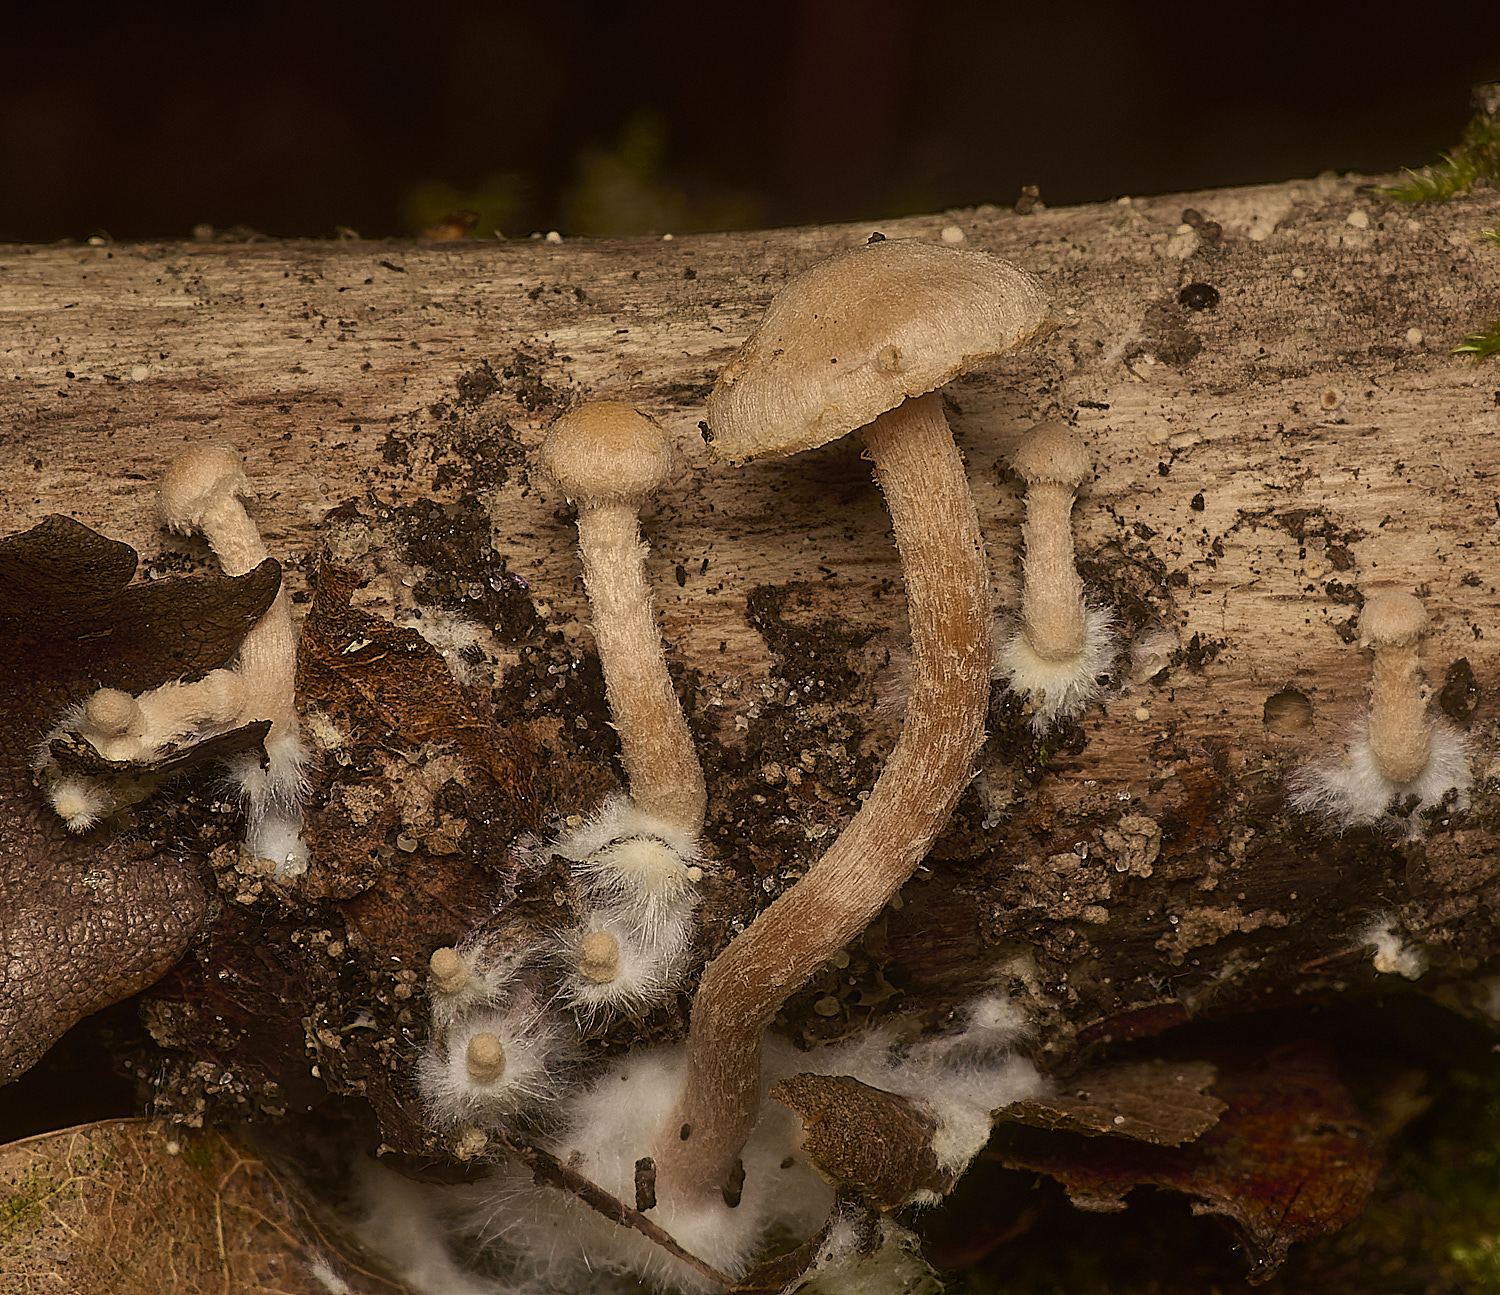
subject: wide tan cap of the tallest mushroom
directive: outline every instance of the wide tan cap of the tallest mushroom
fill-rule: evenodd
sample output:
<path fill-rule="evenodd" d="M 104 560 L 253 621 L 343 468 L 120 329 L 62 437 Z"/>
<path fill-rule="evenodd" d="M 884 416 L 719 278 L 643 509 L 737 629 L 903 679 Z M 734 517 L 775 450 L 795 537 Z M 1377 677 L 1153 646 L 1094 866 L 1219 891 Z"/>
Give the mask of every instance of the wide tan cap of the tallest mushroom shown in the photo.
<path fill-rule="evenodd" d="M 1036 279 L 987 252 L 888 239 L 798 275 L 708 396 L 717 459 L 795 455 L 1035 338 Z"/>

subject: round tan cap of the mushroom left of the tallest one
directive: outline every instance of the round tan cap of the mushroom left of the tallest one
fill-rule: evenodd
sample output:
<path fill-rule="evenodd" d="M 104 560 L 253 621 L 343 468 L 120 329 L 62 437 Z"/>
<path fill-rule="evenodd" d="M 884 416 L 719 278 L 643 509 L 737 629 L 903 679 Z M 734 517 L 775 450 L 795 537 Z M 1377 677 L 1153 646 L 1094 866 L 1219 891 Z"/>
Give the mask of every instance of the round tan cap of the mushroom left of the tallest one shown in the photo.
<path fill-rule="evenodd" d="M 672 479 L 678 453 L 650 414 L 590 401 L 548 428 L 537 465 L 578 504 L 639 504 Z"/>

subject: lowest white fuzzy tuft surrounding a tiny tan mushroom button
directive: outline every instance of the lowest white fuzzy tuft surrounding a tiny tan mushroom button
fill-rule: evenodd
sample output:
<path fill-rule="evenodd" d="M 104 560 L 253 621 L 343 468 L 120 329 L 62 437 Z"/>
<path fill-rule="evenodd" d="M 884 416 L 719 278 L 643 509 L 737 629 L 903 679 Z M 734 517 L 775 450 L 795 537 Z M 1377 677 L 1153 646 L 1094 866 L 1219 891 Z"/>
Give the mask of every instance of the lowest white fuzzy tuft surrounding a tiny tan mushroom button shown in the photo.
<path fill-rule="evenodd" d="M 538 1112 L 566 1086 L 567 1032 L 528 990 L 465 1013 L 434 1037 L 417 1085 L 434 1122 L 494 1127 Z"/>

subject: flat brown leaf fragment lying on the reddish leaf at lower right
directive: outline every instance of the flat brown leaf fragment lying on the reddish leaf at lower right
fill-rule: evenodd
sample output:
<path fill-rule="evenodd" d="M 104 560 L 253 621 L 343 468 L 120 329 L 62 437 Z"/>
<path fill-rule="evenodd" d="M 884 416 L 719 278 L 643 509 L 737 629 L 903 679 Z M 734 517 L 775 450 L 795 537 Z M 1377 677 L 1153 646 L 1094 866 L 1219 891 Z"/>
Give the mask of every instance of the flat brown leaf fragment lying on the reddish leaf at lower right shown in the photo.
<path fill-rule="evenodd" d="M 1110 1065 L 1072 1076 L 1050 1097 L 1012 1101 L 999 1118 L 1034 1128 L 1180 1146 L 1212 1128 L 1224 1112 L 1224 1103 L 1204 1091 L 1215 1073 L 1208 1061 L 1156 1058 Z"/>

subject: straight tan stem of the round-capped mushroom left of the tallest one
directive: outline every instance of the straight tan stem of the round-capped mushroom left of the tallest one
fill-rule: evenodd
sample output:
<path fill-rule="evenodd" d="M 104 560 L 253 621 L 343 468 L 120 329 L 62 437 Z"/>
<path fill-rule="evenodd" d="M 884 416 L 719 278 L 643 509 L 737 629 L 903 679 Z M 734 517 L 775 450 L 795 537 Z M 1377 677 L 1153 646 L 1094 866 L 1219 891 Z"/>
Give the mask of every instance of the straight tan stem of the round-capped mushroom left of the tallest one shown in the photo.
<path fill-rule="evenodd" d="M 708 792 L 666 669 L 636 507 L 580 501 L 578 543 L 630 798 L 645 813 L 696 836 Z"/>

